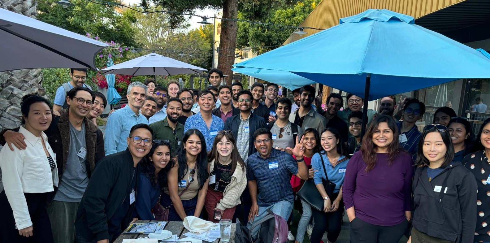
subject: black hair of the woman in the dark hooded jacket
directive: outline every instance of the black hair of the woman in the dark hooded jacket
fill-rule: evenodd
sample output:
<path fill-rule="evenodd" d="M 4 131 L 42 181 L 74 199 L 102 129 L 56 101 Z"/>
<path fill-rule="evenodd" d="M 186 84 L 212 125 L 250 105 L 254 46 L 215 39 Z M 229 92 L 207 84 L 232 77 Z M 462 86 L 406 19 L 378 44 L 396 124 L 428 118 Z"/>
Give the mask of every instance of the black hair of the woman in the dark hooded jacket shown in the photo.
<path fill-rule="evenodd" d="M 423 151 L 423 146 L 424 146 L 424 139 L 427 136 L 427 134 L 431 132 L 439 132 L 442 137 L 442 142 L 444 142 L 444 145 L 447 148 L 446 154 L 444 155 L 444 162 L 441 165 L 441 168 L 445 168 L 446 166 L 450 165 L 451 162 L 454 159 L 454 146 L 453 143 L 451 142 L 451 135 L 449 134 L 449 131 L 441 131 L 438 130 L 434 127 L 434 129 L 424 131 L 422 133 L 422 137 L 420 137 L 420 141 L 418 142 L 418 147 L 417 147 L 417 160 L 416 160 L 416 167 L 420 166 L 428 166 L 429 165 L 429 160 L 425 157 L 424 151 Z"/>

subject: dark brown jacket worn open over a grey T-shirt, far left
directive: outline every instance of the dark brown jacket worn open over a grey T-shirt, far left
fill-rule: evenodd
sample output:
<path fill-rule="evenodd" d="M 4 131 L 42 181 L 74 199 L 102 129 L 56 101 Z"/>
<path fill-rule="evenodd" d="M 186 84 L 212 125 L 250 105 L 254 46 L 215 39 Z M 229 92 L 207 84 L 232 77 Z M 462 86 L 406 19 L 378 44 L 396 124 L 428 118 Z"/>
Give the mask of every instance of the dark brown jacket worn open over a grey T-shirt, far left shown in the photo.
<path fill-rule="evenodd" d="M 70 149 L 70 120 L 68 119 L 69 110 L 60 110 L 60 116 L 54 116 L 49 128 L 44 131 L 48 136 L 49 145 L 56 154 L 56 163 L 58 166 L 58 180 L 61 182 L 63 171 L 66 169 L 66 162 L 68 160 L 68 152 Z M 85 123 L 85 144 L 87 146 L 87 159 L 85 161 L 87 166 L 87 175 L 90 178 L 92 172 L 95 169 L 96 164 L 100 159 L 105 156 L 104 152 L 104 136 L 102 131 L 97 128 L 92 121 L 87 118 L 83 119 Z M 3 134 L 9 129 L 4 129 L 0 132 L 0 144 L 5 145 L 5 139 Z M 19 128 L 11 129 L 14 132 L 18 132 Z M 51 204 L 54 195 L 58 191 L 57 187 L 54 187 L 54 193 L 49 193 L 48 204 Z"/>

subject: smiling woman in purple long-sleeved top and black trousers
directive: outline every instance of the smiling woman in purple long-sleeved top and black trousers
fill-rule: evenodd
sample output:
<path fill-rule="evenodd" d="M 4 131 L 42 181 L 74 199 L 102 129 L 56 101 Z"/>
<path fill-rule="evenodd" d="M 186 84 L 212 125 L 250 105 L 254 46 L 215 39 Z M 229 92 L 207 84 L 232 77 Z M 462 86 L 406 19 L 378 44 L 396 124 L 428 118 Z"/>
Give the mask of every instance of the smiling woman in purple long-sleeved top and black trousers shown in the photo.
<path fill-rule="evenodd" d="M 409 225 L 414 163 L 398 141 L 395 121 L 380 115 L 347 165 L 342 193 L 351 242 L 398 242 Z"/>

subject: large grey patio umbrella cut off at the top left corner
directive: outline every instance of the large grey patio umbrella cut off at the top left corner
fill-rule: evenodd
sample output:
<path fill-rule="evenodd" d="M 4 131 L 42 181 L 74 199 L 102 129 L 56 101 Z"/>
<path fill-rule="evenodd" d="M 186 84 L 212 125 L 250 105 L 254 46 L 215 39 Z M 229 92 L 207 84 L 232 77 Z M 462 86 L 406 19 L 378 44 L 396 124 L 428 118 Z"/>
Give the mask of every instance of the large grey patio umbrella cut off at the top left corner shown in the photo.
<path fill-rule="evenodd" d="M 109 45 L 0 8 L 0 72 L 32 68 L 95 67 Z"/>

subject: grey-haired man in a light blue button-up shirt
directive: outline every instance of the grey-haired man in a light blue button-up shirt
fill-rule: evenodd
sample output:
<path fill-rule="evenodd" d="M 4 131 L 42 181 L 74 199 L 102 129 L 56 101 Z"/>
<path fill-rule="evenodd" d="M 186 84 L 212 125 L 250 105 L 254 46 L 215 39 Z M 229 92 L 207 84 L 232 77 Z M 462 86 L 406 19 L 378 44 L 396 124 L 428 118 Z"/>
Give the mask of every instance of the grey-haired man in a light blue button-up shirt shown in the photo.
<path fill-rule="evenodd" d="M 124 151 L 127 148 L 127 137 L 132 126 L 148 124 L 140 109 L 147 96 L 147 86 L 141 82 L 132 82 L 127 87 L 128 103 L 124 108 L 114 111 L 107 119 L 105 128 L 105 155 Z"/>

